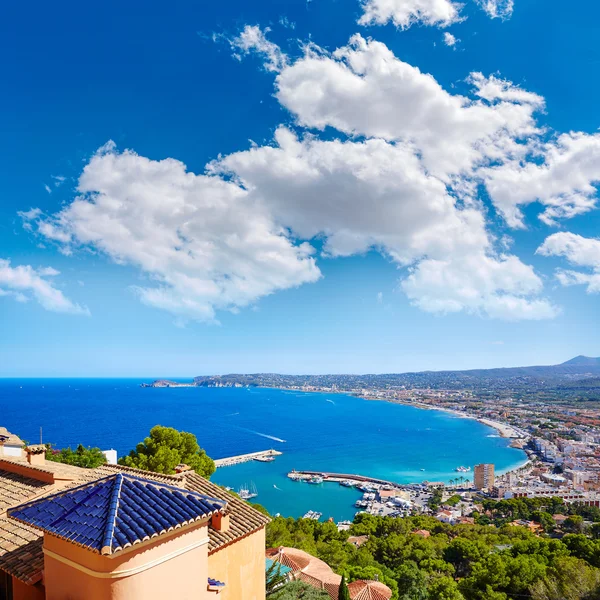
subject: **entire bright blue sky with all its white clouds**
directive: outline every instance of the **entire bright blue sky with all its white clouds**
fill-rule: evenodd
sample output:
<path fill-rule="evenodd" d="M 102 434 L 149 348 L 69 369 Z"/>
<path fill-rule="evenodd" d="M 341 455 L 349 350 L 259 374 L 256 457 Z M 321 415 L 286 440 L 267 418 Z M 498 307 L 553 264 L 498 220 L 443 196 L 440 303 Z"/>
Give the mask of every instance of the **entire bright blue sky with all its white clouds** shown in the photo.
<path fill-rule="evenodd" d="M 1 11 L 0 376 L 600 354 L 597 3 Z"/>

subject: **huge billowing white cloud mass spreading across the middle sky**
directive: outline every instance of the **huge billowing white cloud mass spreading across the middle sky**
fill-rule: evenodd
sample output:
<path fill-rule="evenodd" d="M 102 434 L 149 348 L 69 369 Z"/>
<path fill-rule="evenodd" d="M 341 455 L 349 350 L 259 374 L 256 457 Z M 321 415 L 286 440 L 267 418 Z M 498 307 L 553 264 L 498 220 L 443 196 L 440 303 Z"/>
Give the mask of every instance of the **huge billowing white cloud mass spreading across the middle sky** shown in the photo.
<path fill-rule="evenodd" d="M 449 93 L 359 35 L 333 53 L 308 45 L 295 61 L 258 28 L 236 40 L 263 54 L 304 132 L 281 126 L 272 144 L 204 174 L 109 143 L 85 167 L 80 195 L 55 215 L 28 211 L 28 226 L 65 253 L 83 246 L 137 266 L 149 279 L 140 299 L 179 318 L 214 320 L 316 281 L 315 239 L 330 257 L 381 252 L 425 311 L 557 314 L 532 267 L 488 231 L 477 197 L 493 168 L 539 147 L 543 98 L 480 73 L 468 96 Z M 327 127 L 340 139 L 315 135 Z"/>

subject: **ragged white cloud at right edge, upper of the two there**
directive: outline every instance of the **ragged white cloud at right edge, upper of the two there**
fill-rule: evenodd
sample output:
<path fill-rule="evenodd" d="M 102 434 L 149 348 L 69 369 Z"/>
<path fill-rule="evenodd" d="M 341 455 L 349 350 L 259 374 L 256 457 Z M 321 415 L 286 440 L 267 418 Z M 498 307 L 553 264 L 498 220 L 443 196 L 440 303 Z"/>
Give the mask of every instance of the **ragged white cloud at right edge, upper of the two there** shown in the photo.
<path fill-rule="evenodd" d="M 513 227 L 520 207 L 540 202 L 540 219 L 554 224 L 592 210 L 600 182 L 600 134 L 565 133 L 541 149 L 542 162 L 509 161 L 482 175 L 494 204 Z"/>

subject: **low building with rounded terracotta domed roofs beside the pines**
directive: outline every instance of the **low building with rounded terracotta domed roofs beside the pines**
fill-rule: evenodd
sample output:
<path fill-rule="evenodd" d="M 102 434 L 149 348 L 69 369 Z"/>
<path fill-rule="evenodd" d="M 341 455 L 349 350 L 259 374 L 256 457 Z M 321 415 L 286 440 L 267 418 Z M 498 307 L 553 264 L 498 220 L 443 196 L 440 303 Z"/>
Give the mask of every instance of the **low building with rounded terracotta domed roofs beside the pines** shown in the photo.
<path fill-rule="evenodd" d="M 304 581 L 314 588 L 326 591 L 331 600 L 338 600 L 342 577 L 319 558 L 304 550 L 284 546 L 269 548 L 266 558 L 267 564 L 273 561 L 282 565 L 285 571 L 281 573 L 285 572 L 287 579 Z M 392 597 L 392 590 L 379 581 L 354 581 L 348 585 L 348 591 L 351 600 L 390 600 Z"/>

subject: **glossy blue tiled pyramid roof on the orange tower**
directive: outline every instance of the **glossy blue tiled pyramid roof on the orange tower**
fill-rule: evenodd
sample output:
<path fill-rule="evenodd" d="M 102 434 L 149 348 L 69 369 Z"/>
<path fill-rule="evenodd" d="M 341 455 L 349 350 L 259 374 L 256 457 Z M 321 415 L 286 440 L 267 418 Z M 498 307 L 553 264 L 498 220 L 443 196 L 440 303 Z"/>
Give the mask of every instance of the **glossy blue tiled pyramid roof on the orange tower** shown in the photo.
<path fill-rule="evenodd" d="M 8 516 L 99 554 L 113 554 L 225 506 L 198 492 L 117 473 L 21 504 Z"/>

